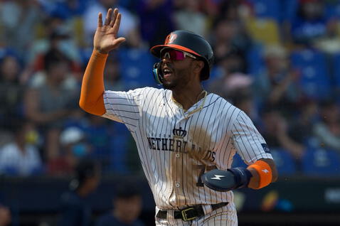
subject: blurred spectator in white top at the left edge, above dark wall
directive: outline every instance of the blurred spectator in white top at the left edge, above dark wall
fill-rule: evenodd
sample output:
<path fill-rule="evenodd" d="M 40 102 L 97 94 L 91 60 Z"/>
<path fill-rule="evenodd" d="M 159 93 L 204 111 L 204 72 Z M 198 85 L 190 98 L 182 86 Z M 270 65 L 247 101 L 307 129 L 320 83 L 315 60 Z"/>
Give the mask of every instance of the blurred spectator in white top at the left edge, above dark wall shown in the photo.
<path fill-rule="evenodd" d="M 41 156 L 36 146 L 28 144 L 28 133 L 33 124 L 26 119 L 12 122 L 14 141 L 0 149 L 0 172 L 13 176 L 29 176 L 41 173 Z"/>

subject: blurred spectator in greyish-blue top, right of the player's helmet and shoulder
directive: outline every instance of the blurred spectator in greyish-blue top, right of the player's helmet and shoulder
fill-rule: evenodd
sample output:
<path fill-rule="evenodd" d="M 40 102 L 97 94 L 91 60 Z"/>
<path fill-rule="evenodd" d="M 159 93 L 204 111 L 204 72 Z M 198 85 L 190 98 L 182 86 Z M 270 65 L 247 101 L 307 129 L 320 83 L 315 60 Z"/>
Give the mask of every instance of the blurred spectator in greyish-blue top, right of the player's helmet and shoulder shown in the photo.
<path fill-rule="evenodd" d="M 301 98 L 297 82 L 299 72 L 290 68 L 287 51 L 280 45 L 268 45 L 263 58 L 265 71 L 256 75 L 253 84 L 257 104 L 282 107 L 281 110 L 289 115 Z"/>

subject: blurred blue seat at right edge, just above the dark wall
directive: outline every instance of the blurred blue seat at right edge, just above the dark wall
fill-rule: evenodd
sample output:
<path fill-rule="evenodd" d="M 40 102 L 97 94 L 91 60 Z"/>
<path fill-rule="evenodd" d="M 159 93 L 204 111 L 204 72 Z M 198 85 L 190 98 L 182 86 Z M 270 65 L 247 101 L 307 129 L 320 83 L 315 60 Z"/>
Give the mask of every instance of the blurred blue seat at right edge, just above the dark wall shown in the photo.
<path fill-rule="evenodd" d="M 340 176 L 340 156 L 330 149 L 308 149 L 302 158 L 302 172 L 308 176 Z"/>

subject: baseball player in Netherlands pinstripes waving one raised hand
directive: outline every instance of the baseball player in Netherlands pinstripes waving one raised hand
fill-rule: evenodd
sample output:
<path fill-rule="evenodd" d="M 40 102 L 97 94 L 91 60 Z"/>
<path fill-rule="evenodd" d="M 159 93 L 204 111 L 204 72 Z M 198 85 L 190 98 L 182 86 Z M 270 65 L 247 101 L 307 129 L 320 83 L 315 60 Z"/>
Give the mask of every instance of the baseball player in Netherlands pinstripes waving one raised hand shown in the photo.
<path fill-rule="evenodd" d="M 211 45 L 174 31 L 151 48 L 164 89 L 104 89 L 103 71 L 121 14 L 109 9 L 98 26 L 80 95 L 86 112 L 124 123 L 134 138 L 156 202 L 156 225 L 238 225 L 233 189 L 259 189 L 277 179 L 265 140 L 240 109 L 203 90 L 213 63 Z M 149 75 L 146 75 L 149 76 Z M 231 168 L 238 152 L 247 168 Z"/>

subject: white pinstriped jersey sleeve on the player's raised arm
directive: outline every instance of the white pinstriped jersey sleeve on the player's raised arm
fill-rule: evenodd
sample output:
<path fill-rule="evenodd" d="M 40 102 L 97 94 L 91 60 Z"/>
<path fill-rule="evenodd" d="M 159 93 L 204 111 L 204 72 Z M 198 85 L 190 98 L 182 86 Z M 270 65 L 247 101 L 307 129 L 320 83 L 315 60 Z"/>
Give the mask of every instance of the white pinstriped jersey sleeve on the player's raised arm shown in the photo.
<path fill-rule="evenodd" d="M 128 129 L 134 131 L 141 115 L 143 94 L 144 88 L 128 92 L 106 90 L 104 92 L 106 112 L 102 117 L 124 123 Z"/>

